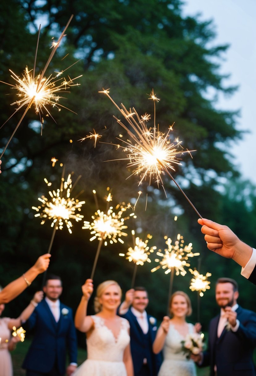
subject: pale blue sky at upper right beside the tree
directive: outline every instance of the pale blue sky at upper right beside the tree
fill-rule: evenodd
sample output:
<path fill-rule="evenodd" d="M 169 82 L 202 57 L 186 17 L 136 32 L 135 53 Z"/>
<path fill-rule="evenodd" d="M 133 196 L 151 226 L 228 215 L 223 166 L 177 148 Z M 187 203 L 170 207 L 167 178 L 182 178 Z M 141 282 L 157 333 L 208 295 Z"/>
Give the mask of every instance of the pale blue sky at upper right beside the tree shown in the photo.
<path fill-rule="evenodd" d="M 185 0 L 184 15 L 201 13 L 201 20 L 213 19 L 215 45 L 229 43 L 221 73 L 231 73 L 226 83 L 240 85 L 231 97 L 221 96 L 216 107 L 241 109 L 238 129 L 250 130 L 230 151 L 243 177 L 256 184 L 256 0 Z"/>

